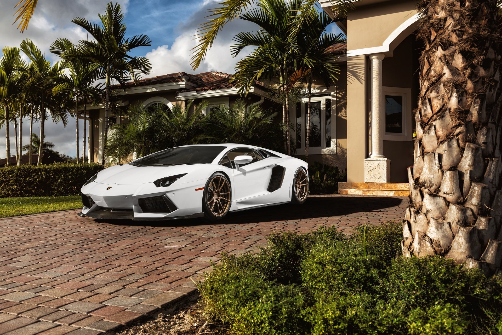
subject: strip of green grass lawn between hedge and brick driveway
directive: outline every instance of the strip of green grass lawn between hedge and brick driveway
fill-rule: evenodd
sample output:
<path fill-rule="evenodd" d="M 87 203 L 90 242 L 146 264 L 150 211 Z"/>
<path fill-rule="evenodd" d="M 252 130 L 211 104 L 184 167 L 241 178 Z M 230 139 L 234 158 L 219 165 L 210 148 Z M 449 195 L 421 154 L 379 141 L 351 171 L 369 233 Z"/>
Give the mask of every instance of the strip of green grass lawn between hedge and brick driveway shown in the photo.
<path fill-rule="evenodd" d="M 0 198 L 0 218 L 64 211 L 81 207 L 82 199 L 79 196 Z"/>

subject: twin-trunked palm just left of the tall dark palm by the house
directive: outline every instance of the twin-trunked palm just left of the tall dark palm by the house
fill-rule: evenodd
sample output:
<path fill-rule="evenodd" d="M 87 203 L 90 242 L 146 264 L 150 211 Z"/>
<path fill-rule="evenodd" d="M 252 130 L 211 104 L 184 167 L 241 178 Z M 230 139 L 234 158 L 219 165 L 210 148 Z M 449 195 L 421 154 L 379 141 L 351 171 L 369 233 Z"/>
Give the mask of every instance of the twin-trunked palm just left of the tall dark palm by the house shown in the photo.
<path fill-rule="evenodd" d="M 70 100 L 75 99 L 75 120 L 76 120 L 76 158 L 78 162 L 79 150 L 78 150 L 78 118 L 79 118 L 79 98 L 84 99 L 84 108 L 86 107 L 87 99 L 84 98 L 89 95 L 97 95 L 96 91 L 99 91 L 101 84 L 93 85 L 93 83 L 99 78 L 98 69 L 99 64 L 88 63 L 79 59 L 77 57 L 67 57 L 66 54 L 74 53 L 73 44 L 67 39 L 56 40 L 51 48 L 52 53 L 60 56 L 62 61 L 62 66 L 69 70 L 69 75 L 63 74 L 55 78 L 56 86 L 54 86 L 52 92 L 53 94 L 58 94 L 65 92 Z M 86 110 L 85 113 L 87 114 Z M 83 151 L 82 151 L 82 162 L 85 157 L 85 126 L 86 126 L 86 115 L 84 115 L 84 140 L 83 140 Z"/>

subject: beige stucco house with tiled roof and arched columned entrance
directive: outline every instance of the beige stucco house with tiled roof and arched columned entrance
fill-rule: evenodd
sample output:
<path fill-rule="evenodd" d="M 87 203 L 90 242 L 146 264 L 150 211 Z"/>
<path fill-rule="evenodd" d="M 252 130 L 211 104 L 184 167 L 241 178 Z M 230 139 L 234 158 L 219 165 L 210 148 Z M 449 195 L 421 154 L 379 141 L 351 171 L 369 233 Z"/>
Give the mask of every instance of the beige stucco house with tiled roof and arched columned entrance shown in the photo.
<path fill-rule="evenodd" d="M 333 16 L 330 0 L 319 0 Z M 337 18 L 335 18 L 337 19 Z M 413 164 L 413 133 L 419 94 L 419 56 L 424 46 L 415 31 L 419 15 L 414 0 L 360 0 L 347 19 L 337 25 L 347 35 L 346 45 L 334 45 L 339 57 L 340 80 L 335 87 L 315 83 L 312 97 L 312 132 L 309 162 L 347 169 L 345 194 L 408 195 L 407 167 Z M 221 72 L 175 73 L 128 83 L 118 95 L 121 105 L 164 103 L 187 99 L 207 100 L 211 105 L 231 104 L 239 98 L 231 75 Z M 247 96 L 249 103 L 264 106 L 264 86 L 257 83 Z M 210 109 L 210 106 L 208 109 Z M 90 156 L 102 158 L 102 106 L 90 113 Z M 290 108 L 296 124 L 298 156 L 305 153 L 306 99 Z M 123 117 L 112 116 L 113 122 Z"/>

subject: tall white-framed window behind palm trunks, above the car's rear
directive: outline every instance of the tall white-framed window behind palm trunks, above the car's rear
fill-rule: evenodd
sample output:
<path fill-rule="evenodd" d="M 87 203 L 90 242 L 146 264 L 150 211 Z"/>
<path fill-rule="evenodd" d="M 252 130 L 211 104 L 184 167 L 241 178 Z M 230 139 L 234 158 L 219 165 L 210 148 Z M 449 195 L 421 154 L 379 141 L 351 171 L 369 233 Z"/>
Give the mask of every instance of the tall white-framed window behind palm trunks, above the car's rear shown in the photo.
<path fill-rule="evenodd" d="M 335 96 L 334 92 L 328 92 L 310 99 L 309 154 L 336 153 Z M 294 138 L 296 154 L 305 154 L 308 99 L 303 98 L 291 109 L 290 121 L 295 124 L 291 135 Z"/>

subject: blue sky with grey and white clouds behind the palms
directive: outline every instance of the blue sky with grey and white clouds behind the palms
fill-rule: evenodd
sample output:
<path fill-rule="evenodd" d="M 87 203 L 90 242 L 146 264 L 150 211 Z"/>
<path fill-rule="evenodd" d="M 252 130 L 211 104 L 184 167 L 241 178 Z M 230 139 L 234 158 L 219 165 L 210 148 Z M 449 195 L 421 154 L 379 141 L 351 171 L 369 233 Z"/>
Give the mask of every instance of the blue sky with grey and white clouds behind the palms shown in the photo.
<path fill-rule="evenodd" d="M 152 63 L 152 72 L 148 77 L 173 72 L 201 73 L 220 71 L 233 73 L 235 63 L 246 56 L 250 50 L 243 50 L 240 57 L 232 58 L 230 45 L 237 32 L 254 31 L 254 24 L 235 20 L 225 26 L 218 34 L 206 59 L 196 70 L 190 67 L 191 49 L 196 45 L 194 40 L 197 26 L 204 22 L 207 11 L 221 0 L 116 0 L 124 12 L 127 25 L 126 37 L 144 34 L 152 39 L 150 47 L 134 50 L 131 56 L 144 56 Z M 19 0 L 0 1 L 0 48 L 19 46 L 24 39 L 31 39 L 45 54 L 45 57 L 56 62 L 58 57 L 49 52 L 50 45 L 57 38 L 68 38 L 77 43 L 86 39 L 86 32 L 73 24 L 71 19 L 83 17 L 97 22 L 98 13 L 103 14 L 106 2 L 102 0 L 40 0 L 28 30 L 23 34 L 13 25 L 12 11 Z M 115 0 L 114 0 L 115 2 Z M 328 27 L 330 32 L 340 33 L 334 24 Z M 0 53 L 1 55 L 1 53 Z M 11 154 L 15 154 L 14 125 L 11 124 Z M 34 132 L 40 132 L 38 124 L 34 124 Z M 24 121 L 23 143 L 29 141 L 29 120 Z M 75 119 L 69 120 L 66 127 L 52 120 L 45 123 L 46 141 L 55 144 L 55 150 L 75 156 Z M 80 121 L 80 135 L 82 121 Z M 0 128 L 0 158 L 6 157 L 5 128 Z M 79 140 L 80 151 L 82 140 Z M 81 152 L 80 152 L 81 154 Z"/>

